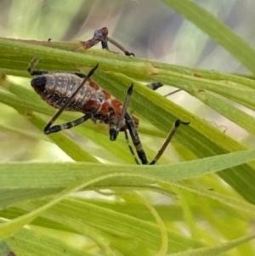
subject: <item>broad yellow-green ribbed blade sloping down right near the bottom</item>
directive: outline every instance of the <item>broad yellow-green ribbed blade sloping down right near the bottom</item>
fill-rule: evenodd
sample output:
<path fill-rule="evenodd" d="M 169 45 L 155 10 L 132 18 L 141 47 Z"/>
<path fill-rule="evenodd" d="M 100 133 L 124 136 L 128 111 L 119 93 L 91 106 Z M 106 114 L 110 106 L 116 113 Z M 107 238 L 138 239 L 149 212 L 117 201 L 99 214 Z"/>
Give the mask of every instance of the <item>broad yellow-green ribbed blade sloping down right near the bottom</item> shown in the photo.
<path fill-rule="evenodd" d="M 40 208 L 45 202 L 26 203 L 20 206 L 26 211 L 33 211 Z M 60 213 L 65 209 L 65 216 Z M 64 200 L 54 208 L 48 210 L 42 215 L 43 218 L 64 224 L 71 229 L 76 230 L 78 234 L 88 236 L 87 225 L 95 229 L 105 232 L 111 236 L 120 237 L 125 242 L 125 237 L 144 243 L 145 247 L 153 250 L 159 250 L 161 247 L 161 232 L 158 225 L 144 221 L 143 219 L 135 219 L 126 214 L 111 211 L 108 208 L 101 208 L 88 204 L 86 202 L 77 201 L 75 199 Z M 112 229 L 112 227 L 115 227 Z M 185 236 L 180 236 L 170 230 L 167 230 L 167 252 L 178 252 L 188 247 L 201 247 L 201 242 L 194 241 Z M 115 246 L 115 243 L 112 244 Z"/>

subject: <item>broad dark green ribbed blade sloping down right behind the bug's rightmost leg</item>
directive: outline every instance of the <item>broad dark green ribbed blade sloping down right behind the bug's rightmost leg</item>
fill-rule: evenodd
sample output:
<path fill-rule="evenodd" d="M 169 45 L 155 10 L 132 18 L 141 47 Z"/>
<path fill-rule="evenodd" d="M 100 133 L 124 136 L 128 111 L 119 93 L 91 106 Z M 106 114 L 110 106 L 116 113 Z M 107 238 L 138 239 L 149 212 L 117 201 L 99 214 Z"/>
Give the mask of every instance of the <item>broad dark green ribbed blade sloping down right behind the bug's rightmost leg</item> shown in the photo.
<path fill-rule="evenodd" d="M 118 78 L 118 82 L 114 82 L 112 75 Z M 106 89 L 111 91 L 111 87 L 114 88 L 112 89 L 112 93 L 117 94 L 117 97 L 120 99 L 123 97 L 120 85 L 125 82 L 123 86 L 127 87 L 128 84 L 133 82 L 129 77 L 111 71 L 107 71 L 107 74 L 95 74 L 95 78 Z M 190 121 L 189 126 L 183 126 L 178 129 L 173 140 L 184 145 L 196 156 L 215 156 L 228 151 L 245 149 L 235 139 L 229 138 L 217 128 L 212 127 L 212 125 L 201 120 L 201 118 L 195 117 L 195 115 L 185 111 L 182 107 L 165 99 L 161 95 L 154 94 L 154 92 L 141 86 L 138 82 L 134 83 L 134 87 L 137 89 L 133 91 L 133 99 L 131 100 L 130 106 L 133 110 L 143 113 L 144 117 L 157 128 L 161 128 L 167 132 L 172 127 L 173 122 L 178 118 L 184 121 Z M 255 193 L 255 188 L 251 184 L 251 180 L 255 180 L 254 163 L 250 162 L 249 165 L 242 165 L 241 167 L 231 168 L 231 170 L 218 173 L 236 191 L 239 191 L 246 200 L 253 203 L 255 200 L 251 195 L 253 192 Z M 242 171 L 240 173 L 241 169 Z"/>

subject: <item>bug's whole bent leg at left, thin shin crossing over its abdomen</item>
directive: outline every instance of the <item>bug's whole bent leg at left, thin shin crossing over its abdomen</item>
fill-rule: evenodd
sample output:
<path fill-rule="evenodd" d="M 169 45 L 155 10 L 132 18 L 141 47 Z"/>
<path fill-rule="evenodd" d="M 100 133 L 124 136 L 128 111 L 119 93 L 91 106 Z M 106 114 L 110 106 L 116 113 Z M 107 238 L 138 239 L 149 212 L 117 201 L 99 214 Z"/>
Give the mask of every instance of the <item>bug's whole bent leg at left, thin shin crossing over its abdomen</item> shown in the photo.
<path fill-rule="evenodd" d="M 96 113 L 97 110 L 93 110 L 91 112 L 89 112 L 87 115 L 85 115 L 84 117 L 78 118 L 77 120 L 75 120 L 74 122 L 66 122 L 65 124 L 63 124 L 62 126 L 54 126 L 52 127 L 52 130 L 50 129 L 52 124 L 56 121 L 56 119 L 61 115 L 61 113 L 63 111 L 65 111 L 65 109 L 71 104 L 71 101 L 75 98 L 75 96 L 77 95 L 77 93 L 79 92 L 79 90 L 83 87 L 83 85 L 85 84 L 85 82 L 88 81 L 89 77 L 91 77 L 94 74 L 94 71 L 96 71 L 96 69 L 98 68 L 99 64 L 95 65 L 94 68 L 88 72 L 88 76 L 85 77 L 83 79 L 83 81 L 81 82 L 81 84 L 77 87 L 77 90 L 71 95 L 71 97 L 66 100 L 65 105 L 61 106 L 61 108 L 59 108 L 59 111 L 57 111 L 54 115 L 54 117 L 52 117 L 50 119 L 50 121 L 48 122 L 47 126 L 44 128 L 44 133 L 45 134 L 51 134 L 51 133 L 56 133 L 59 130 L 61 130 L 62 128 L 71 128 L 72 124 L 74 123 L 75 125 L 85 122 L 87 121 L 89 118 L 93 117 L 94 113 Z M 86 118 L 85 118 L 86 117 Z M 85 119 L 83 121 L 83 119 Z M 74 125 L 74 126 L 75 126 Z"/>

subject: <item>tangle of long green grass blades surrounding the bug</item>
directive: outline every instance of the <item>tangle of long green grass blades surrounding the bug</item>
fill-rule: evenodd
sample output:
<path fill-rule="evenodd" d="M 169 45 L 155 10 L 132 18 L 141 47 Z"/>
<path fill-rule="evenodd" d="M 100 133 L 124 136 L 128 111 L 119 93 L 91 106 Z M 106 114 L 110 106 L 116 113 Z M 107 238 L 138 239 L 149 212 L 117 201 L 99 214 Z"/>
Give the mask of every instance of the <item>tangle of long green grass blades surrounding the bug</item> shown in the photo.
<path fill-rule="evenodd" d="M 206 31 L 254 74 L 253 49 L 228 27 L 188 0 L 163 2 Z M 88 122 L 72 133 L 48 137 L 75 162 L 0 163 L 0 238 L 17 255 L 254 253 L 251 242 L 240 245 L 255 236 L 248 233 L 255 202 L 255 151 L 143 84 L 160 81 L 181 88 L 254 134 L 254 117 L 233 104 L 254 111 L 252 79 L 104 50 L 85 51 L 80 42 L 59 42 L 55 48 L 40 44 L 0 39 L 0 101 L 39 128 L 27 132 L 21 126 L 1 124 L 9 133 L 48 140 L 41 131 L 54 109 L 31 88 L 5 76 L 29 77 L 26 67 L 34 56 L 41 58 L 38 66 L 47 70 L 87 72 L 99 63 L 94 80 L 120 100 L 133 82 L 130 108 L 141 117 L 140 134 L 165 137 L 177 118 L 190 125 L 180 127 L 173 139 L 180 162 L 171 162 L 165 154 L 156 166 L 136 166 L 122 134 L 113 143 L 107 129 Z M 78 113 L 66 112 L 60 119 L 76 117 Z M 99 150 L 85 149 L 77 142 L 88 139 Z M 144 141 L 152 159 L 149 147 L 150 141 Z M 86 191 L 85 195 L 96 191 L 99 198 L 80 196 L 77 191 Z M 165 198 L 158 193 L 167 196 L 167 203 L 154 203 L 150 197 Z M 29 228 L 24 227 L 27 224 Z M 79 239 L 86 247 L 77 244 Z"/>

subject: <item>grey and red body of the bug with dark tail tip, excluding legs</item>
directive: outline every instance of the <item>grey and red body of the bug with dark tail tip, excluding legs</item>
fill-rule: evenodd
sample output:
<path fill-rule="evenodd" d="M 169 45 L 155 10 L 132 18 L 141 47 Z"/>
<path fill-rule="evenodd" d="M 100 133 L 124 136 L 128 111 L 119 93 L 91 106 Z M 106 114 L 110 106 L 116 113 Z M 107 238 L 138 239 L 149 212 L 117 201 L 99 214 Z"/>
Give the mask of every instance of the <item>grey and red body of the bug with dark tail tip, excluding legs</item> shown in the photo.
<path fill-rule="evenodd" d="M 84 78 L 78 77 L 72 73 L 51 73 L 34 77 L 31 80 L 31 86 L 37 94 L 45 100 L 48 105 L 54 108 L 60 108 L 65 104 L 72 94 L 77 90 Z M 113 107 L 116 112 L 116 118 L 120 117 L 122 111 L 122 102 L 111 99 L 111 94 L 99 88 L 93 81 L 88 81 L 79 90 L 77 95 L 71 101 L 66 111 L 80 111 L 84 114 L 97 109 L 98 112 L 92 120 L 94 122 L 109 122 L 109 107 Z M 133 122 L 137 127 L 139 120 L 133 117 Z"/>

